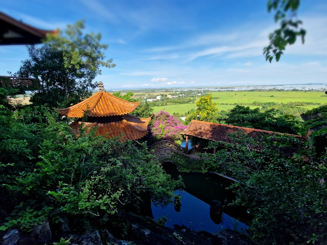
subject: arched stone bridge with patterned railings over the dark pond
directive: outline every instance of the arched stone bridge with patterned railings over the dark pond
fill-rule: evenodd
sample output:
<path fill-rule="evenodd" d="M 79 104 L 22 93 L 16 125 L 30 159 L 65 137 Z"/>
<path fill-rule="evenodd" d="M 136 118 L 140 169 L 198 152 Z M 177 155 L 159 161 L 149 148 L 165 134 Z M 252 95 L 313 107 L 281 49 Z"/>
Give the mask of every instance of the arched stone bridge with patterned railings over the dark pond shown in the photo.
<path fill-rule="evenodd" d="M 166 162 L 166 161 L 171 161 L 171 157 L 173 155 L 178 155 L 178 157 L 185 159 L 186 158 L 191 158 L 191 159 L 196 159 L 196 160 L 203 160 L 203 158 L 199 158 L 195 154 L 185 154 L 182 152 L 181 146 L 175 144 L 174 142 L 171 142 L 169 140 L 161 140 L 159 142 L 156 142 L 152 145 L 148 146 L 148 149 L 150 151 L 153 151 L 152 154 L 157 157 L 160 163 Z"/>

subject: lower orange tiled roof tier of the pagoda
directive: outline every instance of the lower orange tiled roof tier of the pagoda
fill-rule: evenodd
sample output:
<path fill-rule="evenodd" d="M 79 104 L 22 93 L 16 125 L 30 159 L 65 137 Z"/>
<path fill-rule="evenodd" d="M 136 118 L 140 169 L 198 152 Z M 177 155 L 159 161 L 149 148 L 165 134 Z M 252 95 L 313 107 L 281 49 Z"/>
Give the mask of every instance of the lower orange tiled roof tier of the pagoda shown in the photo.
<path fill-rule="evenodd" d="M 132 115 L 125 115 L 123 120 L 109 121 L 109 122 L 81 122 L 74 121 L 71 125 L 72 129 L 79 134 L 78 129 L 82 126 L 88 127 L 88 129 L 93 127 L 98 127 L 97 134 L 106 135 L 106 138 L 119 137 L 120 141 L 136 140 L 147 135 L 148 124 L 151 120 L 149 118 L 138 118 Z"/>

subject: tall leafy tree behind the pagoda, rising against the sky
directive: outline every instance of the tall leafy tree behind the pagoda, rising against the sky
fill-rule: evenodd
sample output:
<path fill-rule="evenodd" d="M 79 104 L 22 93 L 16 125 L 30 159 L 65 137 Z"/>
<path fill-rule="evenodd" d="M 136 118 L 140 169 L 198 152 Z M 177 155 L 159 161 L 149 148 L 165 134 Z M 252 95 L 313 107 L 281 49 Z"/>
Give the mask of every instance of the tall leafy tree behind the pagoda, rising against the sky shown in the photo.
<path fill-rule="evenodd" d="M 101 66 L 111 68 L 105 60 L 101 34 L 83 34 L 84 20 L 67 26 L 65 32 L 49 34 L 41 47 L 28 46 L 30 59 L 22 61 L 16 75 L 39 80 L 42 89 L 32 95 L 38 105 L 66 107 L 80 102 L 91 94 L 97 84 L 92 82 L 101 74 Z"/>

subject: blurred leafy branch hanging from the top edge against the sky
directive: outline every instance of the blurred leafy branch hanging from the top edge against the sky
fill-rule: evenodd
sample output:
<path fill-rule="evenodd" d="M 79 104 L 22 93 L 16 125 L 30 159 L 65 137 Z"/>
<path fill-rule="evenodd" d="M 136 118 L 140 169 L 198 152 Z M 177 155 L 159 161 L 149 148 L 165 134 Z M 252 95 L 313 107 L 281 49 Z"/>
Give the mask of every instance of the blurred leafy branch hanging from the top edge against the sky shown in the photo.
<path fill-rule="evenodd" d="M 275 58 L 278 62 L 285 47 L 294 44 L 297 37 L 301 37 L 302 43 L 305 42 L 306 31 L 299 29 L 302 21 L 298 20 L 296 15 L 299 5 L 300 0 L 268 1 L 268 11 L 276 11 L 274 19 L 275 22 L 279 22 L 280 27 L 269 34 L 270 43 L 264 48 L 266 61 L 269 60 L 271 63 L 272 59 Z"/>

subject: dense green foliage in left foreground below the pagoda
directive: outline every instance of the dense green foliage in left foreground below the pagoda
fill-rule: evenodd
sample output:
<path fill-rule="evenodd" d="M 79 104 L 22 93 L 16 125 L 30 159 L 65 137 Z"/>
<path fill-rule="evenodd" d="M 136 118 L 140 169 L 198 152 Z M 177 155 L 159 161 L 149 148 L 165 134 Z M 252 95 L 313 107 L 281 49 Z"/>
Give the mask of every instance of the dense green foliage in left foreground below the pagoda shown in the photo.
<path fill-rule="evenodd" d="M 68 217 L 73 228 L 105 225 L 118 211 L 167 203 L 177 182 L 145 144 L 77 137 L 43 107 L 12 113 L 1 106 L 0 188 L 3 205 L 16 206 L 0 227 L 31 231 L 48 218 Z"/>

